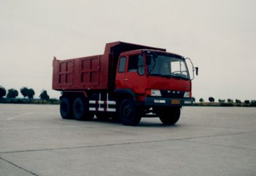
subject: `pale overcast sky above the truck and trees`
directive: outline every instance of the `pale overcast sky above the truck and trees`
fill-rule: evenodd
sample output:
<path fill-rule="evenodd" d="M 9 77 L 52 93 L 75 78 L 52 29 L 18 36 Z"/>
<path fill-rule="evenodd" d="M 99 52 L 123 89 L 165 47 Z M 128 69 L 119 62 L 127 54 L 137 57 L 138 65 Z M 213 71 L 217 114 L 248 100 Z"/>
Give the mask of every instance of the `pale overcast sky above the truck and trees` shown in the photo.
<path fill-rule="evenodd" d="M 108 42 L 166 48 L 199 67 L 193 97 L 256 99 L 254 0 L 0 0 L 0 85 L 50 97 L 52 59 L 103 54 Z M 21 96 L 21 95 L 20 95 Z"/>

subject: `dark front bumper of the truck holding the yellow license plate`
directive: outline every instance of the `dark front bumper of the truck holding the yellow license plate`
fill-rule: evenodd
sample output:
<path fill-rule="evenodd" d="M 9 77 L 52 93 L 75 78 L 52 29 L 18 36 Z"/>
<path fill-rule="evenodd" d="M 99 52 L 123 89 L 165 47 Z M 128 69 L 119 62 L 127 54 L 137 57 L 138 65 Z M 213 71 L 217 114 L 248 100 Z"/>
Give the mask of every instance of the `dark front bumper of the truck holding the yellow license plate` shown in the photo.
<path fill-rule="evenodd" d="M 146 97 L 145 106 L 191 106 L 193 99 Z"/>

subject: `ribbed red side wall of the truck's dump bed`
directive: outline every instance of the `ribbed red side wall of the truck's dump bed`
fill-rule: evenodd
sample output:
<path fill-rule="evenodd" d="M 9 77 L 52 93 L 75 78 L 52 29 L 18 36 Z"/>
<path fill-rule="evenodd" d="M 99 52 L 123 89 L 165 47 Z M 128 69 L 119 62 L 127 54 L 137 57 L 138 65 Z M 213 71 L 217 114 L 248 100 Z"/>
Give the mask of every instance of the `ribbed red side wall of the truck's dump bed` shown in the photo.
<path fill-rule="evenodd" d="M 54 90 L 106 89 L 108 69 L 101 63 L 102 55 L 70 60 L 53 60 Z"/>

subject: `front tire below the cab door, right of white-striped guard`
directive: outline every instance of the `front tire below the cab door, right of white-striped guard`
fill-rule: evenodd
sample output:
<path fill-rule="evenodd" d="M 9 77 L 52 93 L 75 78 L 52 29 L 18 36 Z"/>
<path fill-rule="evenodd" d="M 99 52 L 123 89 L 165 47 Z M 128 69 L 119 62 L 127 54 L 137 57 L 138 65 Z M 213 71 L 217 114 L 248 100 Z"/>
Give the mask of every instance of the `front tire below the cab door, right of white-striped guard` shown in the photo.
<path fill-rule="evenodd" d="M 136 102 L 133 99 L 122 100 L 119 108 L 120 120 L 124 125 L 137 125 L 141 116 L 138 115 Z"/>

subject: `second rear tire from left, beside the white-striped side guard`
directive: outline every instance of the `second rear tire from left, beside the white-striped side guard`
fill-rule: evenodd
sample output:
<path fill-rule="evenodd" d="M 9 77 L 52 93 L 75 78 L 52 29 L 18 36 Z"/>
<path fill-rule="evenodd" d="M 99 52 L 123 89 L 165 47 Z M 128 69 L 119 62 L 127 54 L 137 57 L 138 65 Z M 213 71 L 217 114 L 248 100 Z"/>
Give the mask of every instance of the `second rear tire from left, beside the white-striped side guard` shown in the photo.
<path fill-rule="evenodd" d="M 73 104 L 73 114 L 76 120 L 92 120 L 93 114 L 89 112 L 88 100 L 77 97 Z"/>

